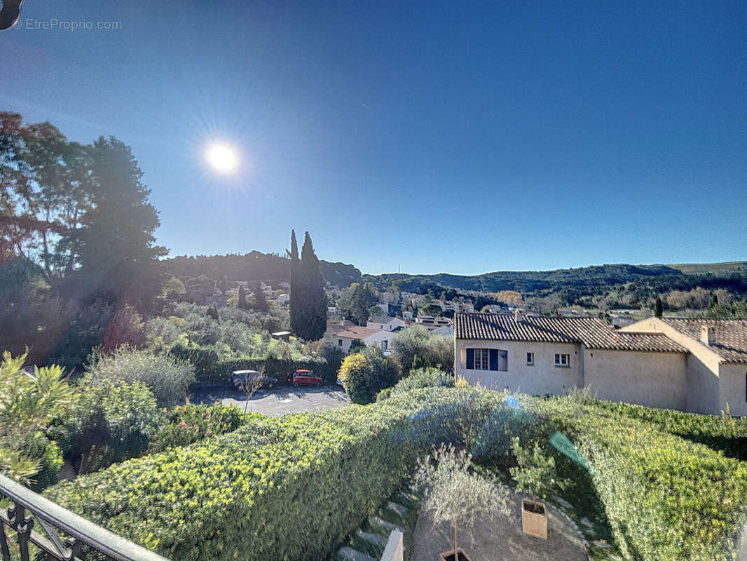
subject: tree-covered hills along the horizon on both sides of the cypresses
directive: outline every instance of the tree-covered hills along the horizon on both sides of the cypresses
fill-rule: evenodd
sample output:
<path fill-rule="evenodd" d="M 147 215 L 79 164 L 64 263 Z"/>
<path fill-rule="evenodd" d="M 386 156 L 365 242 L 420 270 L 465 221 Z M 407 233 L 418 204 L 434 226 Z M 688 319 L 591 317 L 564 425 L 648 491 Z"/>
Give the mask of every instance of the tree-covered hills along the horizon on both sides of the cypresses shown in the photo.
<path fill-rule="evenodd" d="M 168 272 L 179 278 L 205 275 L 215 280 L 229 281 L 288 280 L 290 266 L 286 257 L 263 254 L 260 251 L 239 255 L 173 257 L 164 260 Z M 320 261 L 325 281 L 344 288 L 350 283 L 368 281 L 380 290 L 394 284 L 400 290 L 424 293 L 439 288 L 461 291 L 499 292 L 518 290 L 525 295 L 560 292 L 568 301 L 609 292 L 624 287 L 632 293 L 665 292 L 671 289 L 689 290 L 696 286 L 706 289 L 726 288 L 737 293 L 747 292 L 747 261 L 729 263 L 689 263 L 681 265 L 595 265 L 576 269 L 551 271 L 496 271 L 482 275 L 412 275 L 385 273 L 362 275 L 359 269 L 345 263 Z"/>

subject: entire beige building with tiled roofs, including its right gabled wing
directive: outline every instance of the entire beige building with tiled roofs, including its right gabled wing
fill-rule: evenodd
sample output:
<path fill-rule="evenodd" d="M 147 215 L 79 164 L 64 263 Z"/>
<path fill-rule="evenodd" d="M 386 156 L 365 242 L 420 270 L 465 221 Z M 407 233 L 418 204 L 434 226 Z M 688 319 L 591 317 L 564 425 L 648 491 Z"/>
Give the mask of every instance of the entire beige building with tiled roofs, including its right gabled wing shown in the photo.
<path fill-rule="evenodd" d="M 747 415 L 747 320 L 651 318 L 622 329 L 585 317 L 458 313 L 455 371 L 471 384 Z"/>

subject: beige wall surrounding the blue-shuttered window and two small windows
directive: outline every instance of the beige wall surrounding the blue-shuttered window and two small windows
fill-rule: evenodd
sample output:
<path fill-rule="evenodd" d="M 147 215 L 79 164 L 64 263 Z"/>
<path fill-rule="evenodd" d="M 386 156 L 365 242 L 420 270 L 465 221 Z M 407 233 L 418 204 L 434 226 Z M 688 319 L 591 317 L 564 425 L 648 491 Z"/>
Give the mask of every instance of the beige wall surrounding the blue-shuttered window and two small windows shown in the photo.
<path fill-rule="evenodd" d="M 467 370 L 467 349 L 499 349 L 508 352 L 508 370 Z M 470 384 L 481 384 L 497 390 L 531 394 L 562 395 L 565 386 L 582 384 L 582 356 L 577 343 L 527 343 L 524 341 L 454 340 L 455 371 Z M 534 365 L 527 365 L 527 352 L 534 353 Z M 570 355 L 569 367 L 555 366 L 555 353 Z"/>

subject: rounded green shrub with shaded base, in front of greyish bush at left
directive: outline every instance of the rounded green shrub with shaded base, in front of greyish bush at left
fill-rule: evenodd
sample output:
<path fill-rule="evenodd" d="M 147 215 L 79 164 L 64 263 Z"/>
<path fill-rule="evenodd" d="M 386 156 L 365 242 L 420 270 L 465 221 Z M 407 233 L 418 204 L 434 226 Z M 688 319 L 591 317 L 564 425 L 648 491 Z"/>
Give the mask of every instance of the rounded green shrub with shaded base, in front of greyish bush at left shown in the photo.
<path fill-rule="evenodd" d="M 143 454 L 158 430 L 161 416 L 149 388 L 103 379 L 84 387 L 69 414 L 52 432 L 78 473 L 105 468 Z"/>

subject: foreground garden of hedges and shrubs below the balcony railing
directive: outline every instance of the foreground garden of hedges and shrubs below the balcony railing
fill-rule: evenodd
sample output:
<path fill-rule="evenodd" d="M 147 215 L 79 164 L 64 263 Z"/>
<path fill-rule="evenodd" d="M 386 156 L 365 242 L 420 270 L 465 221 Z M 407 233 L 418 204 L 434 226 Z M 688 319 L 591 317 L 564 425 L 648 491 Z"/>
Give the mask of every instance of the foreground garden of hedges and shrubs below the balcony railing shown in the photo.
<path fill-rule="evenodd" d="M 170 559 L 333 558 L 376 533 L 395 494 L 448 529 L 440 551 L 465 558 L 492 520 L 539 536 L 538 551 L 543 532 L 580 528 L 574 547 L 592 559 L 736 559 L 744 420 L 585 391 L 508 395 L 433 367 L 369 405 L 269 418 L 184 403 L 188 364 L 160 355 L 156 376 L 143 353 L 98 357 L 76 383 L 56 367 L 28 376 L 22 357 L 4 355 L 1 458 L 46 497 Z M 524 512 L 549 513 L 548 525 L 525 526 Z"/>

